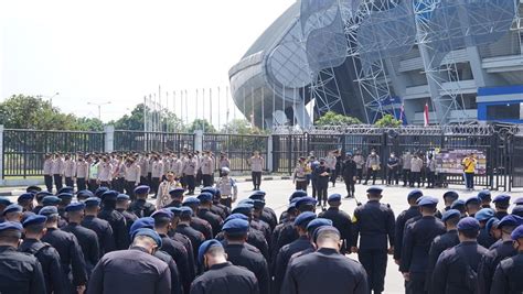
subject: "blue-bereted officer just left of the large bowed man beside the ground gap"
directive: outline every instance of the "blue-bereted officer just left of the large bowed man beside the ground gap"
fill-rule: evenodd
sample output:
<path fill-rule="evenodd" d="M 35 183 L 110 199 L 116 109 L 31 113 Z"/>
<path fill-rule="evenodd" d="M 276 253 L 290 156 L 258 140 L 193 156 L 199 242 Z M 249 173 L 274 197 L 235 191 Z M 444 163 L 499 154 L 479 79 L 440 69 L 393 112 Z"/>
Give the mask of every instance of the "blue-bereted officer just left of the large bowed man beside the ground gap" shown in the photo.
<path fill-rule="evenodd" d="M 276 257 L 276 270 L 274 273 L 275 293 L 280 292 L 290 257 L 295 253 L 310 249 L 312 247 L 312 243 L 310 242 L 308 236 L 307 226 L 313 219 L 316 219 L 316 214 L 311 211 L 300 214 L 295 219 L 295 228 L 298 231 L 299 238 L 292 241 L 291 243 L 284 246 Z"/>

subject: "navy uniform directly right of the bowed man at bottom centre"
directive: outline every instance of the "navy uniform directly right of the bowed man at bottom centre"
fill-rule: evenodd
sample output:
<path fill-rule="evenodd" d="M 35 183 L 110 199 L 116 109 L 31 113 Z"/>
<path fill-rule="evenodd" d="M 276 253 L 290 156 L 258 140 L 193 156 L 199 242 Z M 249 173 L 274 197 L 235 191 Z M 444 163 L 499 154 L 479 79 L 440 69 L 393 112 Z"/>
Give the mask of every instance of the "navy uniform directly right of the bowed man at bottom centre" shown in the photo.
<path fill-rule="evenodd" d="M 234 265 L 241 265 L 252 271 L 258 279 L 259 293 L 269 293 L 269 270 L 267 261 L 259 250 L 248 248 L 246 244 L 226 244 L 224 246 L 227 259 Z"/>

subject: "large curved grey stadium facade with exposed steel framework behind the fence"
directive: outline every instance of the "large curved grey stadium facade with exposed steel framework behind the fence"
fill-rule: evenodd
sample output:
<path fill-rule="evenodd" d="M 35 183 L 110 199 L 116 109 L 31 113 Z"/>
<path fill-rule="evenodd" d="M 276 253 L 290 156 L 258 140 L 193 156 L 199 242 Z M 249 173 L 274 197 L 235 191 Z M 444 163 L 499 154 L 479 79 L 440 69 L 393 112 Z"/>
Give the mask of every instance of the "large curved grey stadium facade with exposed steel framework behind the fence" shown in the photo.
<path fill-rule="evenodd" d="M 419 124 L 426 105 L 431 123 L 521 123 L 523 0 L 297 1 L 230 79 L 258 127 L 329 110 Z"/>

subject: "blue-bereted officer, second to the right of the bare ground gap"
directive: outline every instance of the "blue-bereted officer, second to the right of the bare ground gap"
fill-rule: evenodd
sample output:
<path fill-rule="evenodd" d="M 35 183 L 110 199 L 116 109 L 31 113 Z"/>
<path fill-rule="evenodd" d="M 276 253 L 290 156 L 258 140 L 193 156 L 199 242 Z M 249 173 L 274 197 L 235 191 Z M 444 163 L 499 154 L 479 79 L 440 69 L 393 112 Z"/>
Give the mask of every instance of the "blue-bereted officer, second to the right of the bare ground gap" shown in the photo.
<path fill-rule="evenodd" d="M 461 219 L 461 215 L 456 209 L 449 209 L 445 211 L 441 217 L 441 221 L 447 228 L 447 232 L 438 236 L 434 239 L 428 251 L 428 266 L 427 266 L 427 280 L 425 281 L 425 290 L 430 291 L 433 282 L 433 272 L 438 261 L 439 254 L 445 250 L 459 244 L 458 238 L 458 221 Z"/>

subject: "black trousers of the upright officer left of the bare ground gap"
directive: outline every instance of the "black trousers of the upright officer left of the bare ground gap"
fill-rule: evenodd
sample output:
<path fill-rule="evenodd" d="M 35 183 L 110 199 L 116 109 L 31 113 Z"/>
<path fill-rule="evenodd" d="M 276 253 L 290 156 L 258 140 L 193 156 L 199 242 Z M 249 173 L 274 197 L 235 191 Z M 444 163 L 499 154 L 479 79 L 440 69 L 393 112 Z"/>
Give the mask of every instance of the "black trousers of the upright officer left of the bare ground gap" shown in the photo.
<path fill-rule="evenodd" d="M 369 290 L 383 292 L 385 286 L 385 273 L 387 270 L 386 249 L 360 249 L 357 259 L 365 268 L 369 279 Z"/>

